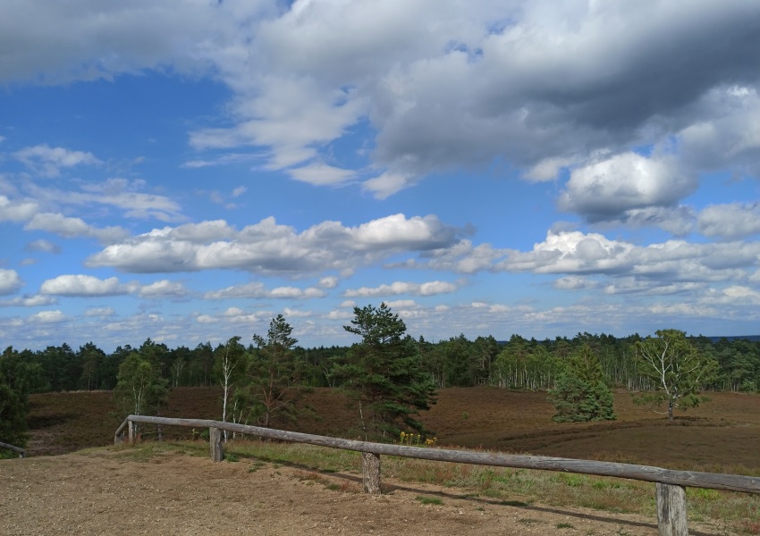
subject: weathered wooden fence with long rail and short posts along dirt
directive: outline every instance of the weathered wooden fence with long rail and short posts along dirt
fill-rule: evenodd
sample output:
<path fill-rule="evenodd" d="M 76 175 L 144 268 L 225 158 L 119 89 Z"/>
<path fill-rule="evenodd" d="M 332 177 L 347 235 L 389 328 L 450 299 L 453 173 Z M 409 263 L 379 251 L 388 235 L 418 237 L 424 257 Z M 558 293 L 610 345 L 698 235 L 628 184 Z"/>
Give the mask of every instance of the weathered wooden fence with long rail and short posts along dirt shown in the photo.
<path fill-rule="evenodd" d="M 521 456 L 499 453 L 448 450 L 443 448 L 407 447 L 367 441 L 342 440 L 297 431 L 274 430 L 246 424 L 224 423 L 206 419 L 174 419 L 129 415 L 114 434 L 114 443 L 124 441 L 128 434 L 130 443 L 135 439 L 135 423 L 166 424 L 209 429 L 211 457 L 216 462 L 224 459 L 221 431 L 235 431 L 272 440 L 309 443 L 330 448 L 342 448 L 361 453 L 362 480 L 367 493 L 380 493 L 380 455 L 404 456 L 440 462 L 460 464 L 493 465 L 520 469 L 542 469 L 564 473 L 594 474 L 654 482 L 657 502 L 657 525 L 660 536 L 688 536 L 686 488 L 740 491 L 760 494 L 760 478 L 737 474 L 699 473 L 673 471 L 648 465 L 595 462 L 549 456 Z"/>

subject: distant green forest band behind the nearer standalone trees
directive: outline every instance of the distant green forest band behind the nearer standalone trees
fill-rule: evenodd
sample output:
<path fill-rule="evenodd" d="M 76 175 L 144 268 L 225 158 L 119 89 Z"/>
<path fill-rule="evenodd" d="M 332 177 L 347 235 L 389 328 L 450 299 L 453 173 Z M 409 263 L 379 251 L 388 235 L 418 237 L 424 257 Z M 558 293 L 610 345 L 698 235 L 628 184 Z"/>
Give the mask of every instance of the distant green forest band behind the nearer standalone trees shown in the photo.
<path fill-rule="evenodd" d="M 414 339 L 414 345 L 424 370 L 438 388 L 491 385 L 505 389 L 551 389 L 562 361 L 580 346 L 589 345 L 612 386 L 642 390 L 651 386 L 649 380 L 638 373 L 635 364 L 635 345 L 641 339 L 637 334 L 616 338 L 604 333 L 578 333 L 572 339 L 536 340 L 511 335 L 508 340 L 493 336 L 471 340 L 460 334 L 435 343 L 420 337 Z M 719 365 L 714 380 L 703 385 L 703 389 L 757 392 L 760 386 L 760 341 L 688 339 L 702 353 L 714 357 Z M 4 349 L 2 359 L 8 375 L 20 375 L 21 368 L 34 369 L 30 385 L 25 388 L 30 393 L 114 389 L 119 367 L 133 353 L 156 364 L 161 378 L 170 387 L 211 386 L 219 384 L 215 363 L 224 355 L 229 342 L 216 346 L 204 342 L 195 348 L 169 348 L 146 339 L 139 346 L 125 344 L 110 354 L 93 342 L 76 350 L 64 342 L 38 351 L 8 347 Z M 258 351 L 252 339 L 243 348 L 249 354 Z M 293 359 L 300 363 L 300 384 L 340 387 L 334 365 L 336 359 L 345 356 L 349 350 L 350 347 L 337 346 L 292 348 Z"/>

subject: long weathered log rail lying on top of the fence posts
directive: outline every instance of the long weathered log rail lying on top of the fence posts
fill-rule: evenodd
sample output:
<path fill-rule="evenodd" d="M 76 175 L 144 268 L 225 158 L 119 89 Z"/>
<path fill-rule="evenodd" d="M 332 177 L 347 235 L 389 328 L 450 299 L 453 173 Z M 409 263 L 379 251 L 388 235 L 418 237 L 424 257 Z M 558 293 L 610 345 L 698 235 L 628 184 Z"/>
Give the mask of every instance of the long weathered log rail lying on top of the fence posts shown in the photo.
<path fill-rule="evenodd" d="M 541 469 L 561 471 L 564 473 L 595 474 L 628 478 L 644 482 L 661 482 L 674 486 L 706 488 L 711 490 L 741 491 L 760 493 L 760 478 L 738 474 L 699 473 L 696 471 L 672 471 L 648 465 L 617 464 L 612 462 L 595 462 L 571 458 L 550 456 L 521 456 L 501 453 L 469 452 L 466 450 L 448 450 L 443 448 L 407 447 L 405 445 L 387 445 L 367 441 L 342 440 L 317 436 L 298 431 L 273 430 L 246 424 L 223 423 L 206 419 L 175 419 L 169 417 L 149 417 L 130 415 L 136 423 L 154 423 L 173 426 L 219 428 L 238 431 L 273 440 L 310 443 L 330 448 L 343 448 L 357 452 L 371 452 L 376 455 L 406 456 L 418 459 L 435 460 L 473 465 L 494 465 L 497 467 L 516 467 L 520 469 Z"/>

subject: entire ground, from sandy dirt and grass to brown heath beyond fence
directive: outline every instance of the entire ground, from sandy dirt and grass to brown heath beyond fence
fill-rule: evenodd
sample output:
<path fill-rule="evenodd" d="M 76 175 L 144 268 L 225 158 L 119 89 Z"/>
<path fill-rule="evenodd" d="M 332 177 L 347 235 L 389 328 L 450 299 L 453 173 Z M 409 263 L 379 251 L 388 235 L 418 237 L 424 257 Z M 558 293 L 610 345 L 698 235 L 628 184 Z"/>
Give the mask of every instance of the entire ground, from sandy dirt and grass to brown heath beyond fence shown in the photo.
<path fill-rule="evenodd" d="M 220 395 L 220 389 L 174 389 L 162 415 L 218 419 Z M 31 457 L 0 462 L 0 524 L 7 534 L 657 533 L 652 486 L 621 479 L 388 456 L 385 494 L 371 498 L 359 493 L 355 453 L 338 462 L 287 454 L 308 446 L 236 441 L 230 452 L 241 463 L 221 465 L 200 441 L 40 457 L 106 446 L 124 415 L 108 392 L 31 401 Z M 312 411 L 283 428 L 356 437 L 356 412 L 340 392 L 314 389 L 300 405 Z M 757 396 L 717 393 L 668 423 L 618 392 L 618 421 L 558 424 L 545 393 L 468 388 L 443 389 L 422 419 L 439 446 L 758 474 L 758 406 Z M 151 431 L 144 432 L 150 439 Z M 193 433 L 165 432 L 186 439 Z M 688 500 L 692 533 L 760 533 L 755 498 L 689 489 Z"/>

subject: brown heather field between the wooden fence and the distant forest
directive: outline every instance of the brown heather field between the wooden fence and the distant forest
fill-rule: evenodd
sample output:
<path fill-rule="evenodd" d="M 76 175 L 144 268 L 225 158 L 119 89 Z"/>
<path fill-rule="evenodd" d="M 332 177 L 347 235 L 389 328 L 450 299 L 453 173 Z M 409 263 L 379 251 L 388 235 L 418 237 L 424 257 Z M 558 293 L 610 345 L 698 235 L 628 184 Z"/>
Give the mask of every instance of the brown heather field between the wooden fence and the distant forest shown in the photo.
<path fill-rule="evenodd" d="M 220 397 L 215 388 L 173 389 L 162 415 L 218 419 Z M 760 474 L 760 397 L 721 392 L 711 398 L 668 423 L 619 391 L 617 421 L 561 424 L 552 422 L 553 407 L 544 392 L 452 388 L 439 391 L 437 404 L 422 420 L 435 431 L 439 446 Z M 31 404 L 31 456 L 107 445 L 124 417 L 106 391 L 33 395 Z M 298 423 L 282 428 L 359 436 L 356 412 L 339 391 L 314 389 L 299 404 L 308 411 Z M 151 433 L 146 431 L 144 439 L 151 439 Z M 177 439 L 192 436 L 188 429 L 166 433 Z"/>

